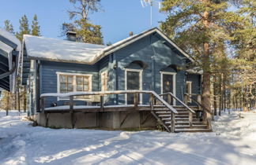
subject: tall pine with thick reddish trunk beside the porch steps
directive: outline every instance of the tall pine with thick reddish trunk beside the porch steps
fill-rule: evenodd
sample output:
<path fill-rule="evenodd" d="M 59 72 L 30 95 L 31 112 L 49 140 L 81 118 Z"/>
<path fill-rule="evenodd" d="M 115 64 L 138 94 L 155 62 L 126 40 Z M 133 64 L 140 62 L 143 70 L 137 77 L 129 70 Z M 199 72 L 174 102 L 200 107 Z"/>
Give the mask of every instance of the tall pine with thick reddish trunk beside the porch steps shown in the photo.
<path fill-rule="evenodd" d="M 210 110 L 210 75 L 213 69 L 213 49 L 227 51 L 225 43 L 236 26 L 243 24 L 243 16 L 228 10 L 224 0 L 164 0 L 162 10 L 168 18 L 161 28 L 179 46 L 186 49 L 203 69 L 202 103 Z"/>

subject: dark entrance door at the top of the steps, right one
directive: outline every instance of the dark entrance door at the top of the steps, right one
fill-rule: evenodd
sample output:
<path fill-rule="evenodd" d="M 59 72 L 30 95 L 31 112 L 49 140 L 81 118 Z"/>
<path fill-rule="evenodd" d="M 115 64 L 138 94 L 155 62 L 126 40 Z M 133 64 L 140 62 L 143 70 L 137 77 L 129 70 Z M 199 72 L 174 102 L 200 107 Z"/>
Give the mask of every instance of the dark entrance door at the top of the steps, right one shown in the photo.
<path fill-rule="evenodd" d="M 162 93 L 168 93 L 171 92 L 174 94 L 174 76 L 171 74 L 164 74 L 162 75 Z M 168 98 L 168 95 L 164 95 L 164 100 L 168 101 L 168 103 L 171 101 L 171 105 L 173 105 L 173 99 L 171 97 Z"/>

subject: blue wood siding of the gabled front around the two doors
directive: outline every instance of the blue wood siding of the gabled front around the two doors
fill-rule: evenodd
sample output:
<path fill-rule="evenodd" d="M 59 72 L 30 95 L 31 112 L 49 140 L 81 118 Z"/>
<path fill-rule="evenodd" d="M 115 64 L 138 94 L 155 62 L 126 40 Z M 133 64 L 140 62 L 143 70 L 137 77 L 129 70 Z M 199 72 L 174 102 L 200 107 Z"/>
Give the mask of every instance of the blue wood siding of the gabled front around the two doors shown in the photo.
<path fill-rule="evenodd" d="M 113 77 L 110 79 L 111 84 L 113 84 L 112 89 L 125 90 L 125 68 L 133 61 L 142 61 L 148 65 L 148 68 L 144 68 L 142 73 L 142 90 L 155 90 L 158 94 L 161 92 L 160 71 L 171 64 L 180 66 L 185 64 L 180 55 L 164 44 L 162 38 L 156 35 L 146 36 L 114 53 L 113 63 L 117 64 L 117 68 L 111 71 L 113 73 Z M 176 75 L 176 96 L 182 100 L 184 90 L 185 72 L 178 72 Z M 119 104 L 124 103 L 124 97 L 124 95 L 119 96 Z M 143 96 L 143 103 L 148 101 L 149 97 Z"/>

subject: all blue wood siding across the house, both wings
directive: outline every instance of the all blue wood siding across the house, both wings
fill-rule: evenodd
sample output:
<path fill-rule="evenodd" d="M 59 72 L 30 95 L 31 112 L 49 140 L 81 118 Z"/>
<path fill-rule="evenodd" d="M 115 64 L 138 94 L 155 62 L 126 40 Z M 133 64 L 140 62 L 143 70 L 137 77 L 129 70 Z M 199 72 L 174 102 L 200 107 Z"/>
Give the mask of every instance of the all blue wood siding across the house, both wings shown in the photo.
<path fill-rule="evenodd" d="M 101 90 L 100 74 L 107 71 L 107 90 L 125 90 L 125 68 L 141 68 L 137 64 L 130 64 L 133 61 L 141 61 L 146 64 L 142 72 L 142 90 L 154 90 L 161 93 L 160 72 L 175 72 L 175 93 L 183 101 L 183 94 L 186 91 L 186 80 L 192 81 L 192 93 L 198 94 L 200 88 L 200 75 L 186 75 L 186 72 L 176 71 L 169 66 L 176 64 L 183 67 L 186 58 L 169 46 L 160 35 L 148 35 L 131 43 L 104 57 L 96 64 L 72 64 L 63 62 L 40 61 L 40 94 L 57 93 L 56 72 L 92 74 L 92 91 Z M 125 95 L 112 95 L 104 98 L 109 104 L 124 104 Z M 148 95 L 143 95 L 143 104 L 149 101 Z M 56 102 L 63 105 L 65 101 L 57 101 L 53 97 L 47 99 L 46 107 Z M 77 105 L 85 102 L 77 102 Z M 178 102 L 176 102 L 179 105 Z"/>

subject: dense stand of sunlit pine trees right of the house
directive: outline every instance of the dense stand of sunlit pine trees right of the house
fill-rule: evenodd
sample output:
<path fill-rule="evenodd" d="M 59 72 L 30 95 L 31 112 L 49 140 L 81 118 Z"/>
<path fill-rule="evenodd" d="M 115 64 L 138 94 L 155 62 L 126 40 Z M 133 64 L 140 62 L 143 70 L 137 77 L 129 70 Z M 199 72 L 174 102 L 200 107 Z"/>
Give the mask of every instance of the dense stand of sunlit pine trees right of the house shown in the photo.
<path fill-rule="evenodd" d="M 240 94 L 241 108 L 247 95 L 250 101 L 246 102 L 256 105 L 255 9 L 256 3 L 250 0 L 163 2 L 162 11 L 168 13 L 168 18 L 160 27 L 203 69 L 203 101 L 208 108 L 211 80 L 215 110 L 217 97 L 221 110 L 227 107 L 227 102 L 237 106 L 235 97 Z"/>

